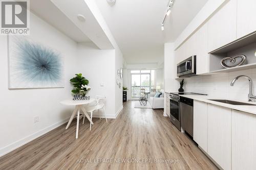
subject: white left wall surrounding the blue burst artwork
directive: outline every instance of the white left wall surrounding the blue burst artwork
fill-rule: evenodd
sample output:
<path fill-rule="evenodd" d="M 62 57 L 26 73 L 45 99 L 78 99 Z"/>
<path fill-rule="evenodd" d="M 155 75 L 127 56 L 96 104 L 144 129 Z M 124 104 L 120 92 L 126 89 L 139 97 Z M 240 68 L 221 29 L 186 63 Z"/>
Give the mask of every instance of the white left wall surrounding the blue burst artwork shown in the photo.
<path fill-rule="evenodd" d="M 8 89 L 7 37 L 0 36 L 0 155 L 66 122 L 72 107 L 59 104 L 71 98 L 70 78 L 77 72 L 77 43 L 31 13 L 30 37 L 59 51 L 65 59 L 65 88 Z M 34 117 L 39 122 L 34 123 Z"/>

